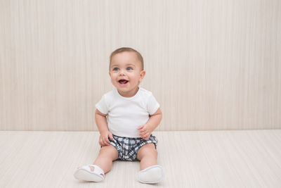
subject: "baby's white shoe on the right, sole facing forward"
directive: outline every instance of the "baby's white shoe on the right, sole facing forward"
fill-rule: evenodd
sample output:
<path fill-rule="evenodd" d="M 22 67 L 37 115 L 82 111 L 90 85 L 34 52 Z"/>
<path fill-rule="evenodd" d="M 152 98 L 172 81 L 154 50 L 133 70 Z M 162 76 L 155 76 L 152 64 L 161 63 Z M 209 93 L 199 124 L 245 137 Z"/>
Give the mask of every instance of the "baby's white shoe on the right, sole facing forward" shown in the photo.
<path fill-rule="evenodd" d="M 160 182 L 164 177 L 164 169 L 161 165 L 152 165 L 138 172 L 138 181 L 147 184 Z"/>

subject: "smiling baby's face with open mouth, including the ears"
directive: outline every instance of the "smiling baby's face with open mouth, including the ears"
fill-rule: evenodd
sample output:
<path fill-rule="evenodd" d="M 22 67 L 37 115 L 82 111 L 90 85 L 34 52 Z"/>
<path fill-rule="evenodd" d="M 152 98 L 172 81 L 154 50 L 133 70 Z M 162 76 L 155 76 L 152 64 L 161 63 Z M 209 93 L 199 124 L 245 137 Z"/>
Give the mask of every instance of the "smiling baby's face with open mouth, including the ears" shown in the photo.
<path fill-rule="evenodd" d="M 138 84 L 141 83 L 144 76 L 145 70 L 141 70 L 141 61 L 134 52 L 123 51 L 112 57 L 111 82 L 122 96 L 135 95 L 138 92 Z"/>

